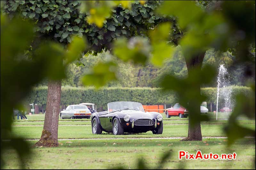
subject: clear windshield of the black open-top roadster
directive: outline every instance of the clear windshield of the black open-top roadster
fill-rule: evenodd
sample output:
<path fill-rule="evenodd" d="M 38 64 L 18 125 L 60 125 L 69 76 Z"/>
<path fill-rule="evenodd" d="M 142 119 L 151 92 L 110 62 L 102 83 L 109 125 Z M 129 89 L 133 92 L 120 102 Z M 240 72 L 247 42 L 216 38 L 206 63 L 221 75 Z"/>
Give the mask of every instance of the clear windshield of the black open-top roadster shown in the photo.
<path fill-rule="evenodd" d="M 141 103 L 137 103 L 137 102 L 122 101 L 122 102 L 108 103 L 108 112 L 112 112 L 120 109 L 135 109 L 141 112 L 145 112 Z"/>

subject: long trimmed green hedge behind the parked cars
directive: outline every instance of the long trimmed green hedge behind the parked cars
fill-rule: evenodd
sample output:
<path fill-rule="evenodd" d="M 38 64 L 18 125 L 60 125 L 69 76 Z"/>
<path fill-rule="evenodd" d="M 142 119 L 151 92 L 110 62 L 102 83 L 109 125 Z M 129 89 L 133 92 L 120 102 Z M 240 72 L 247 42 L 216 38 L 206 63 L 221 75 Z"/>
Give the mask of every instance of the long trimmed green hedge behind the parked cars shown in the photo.
<path fill-rule="evenodd" d="M 233 86 L 233 95 L 243 92 L 246 95 L 252 94 L 249 87 Z M 208 96 L 207 103 L 216 103 L 217 89 L 202 88 L 202 94 Z M 38 105 L 45 105 L 47 99 L 47 87 L 33 89 L 28 97 L 28 102 Z M 160 88 L 136 87 L 108 87 L 94 90 L 92 87 L 62 87 L 61 105 L 79 104 L 82 102 L 95 103 L 98 108 L 107 108 L 108 102 L 114 101 L 135 101 L 143 105 L 174 104 L 179 102 L 174 92 L 163 93 Z"/>

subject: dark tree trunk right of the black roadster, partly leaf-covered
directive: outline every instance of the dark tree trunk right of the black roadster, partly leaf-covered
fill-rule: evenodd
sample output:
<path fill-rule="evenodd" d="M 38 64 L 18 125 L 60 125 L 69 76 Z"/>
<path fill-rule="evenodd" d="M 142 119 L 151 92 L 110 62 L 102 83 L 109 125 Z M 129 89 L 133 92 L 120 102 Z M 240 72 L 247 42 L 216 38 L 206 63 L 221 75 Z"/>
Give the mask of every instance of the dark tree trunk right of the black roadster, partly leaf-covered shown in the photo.
<path fill-rule="evenodd" d="M 202 68 L 203 60 L 204 60 L 204 53 L 198 54 L 193 57 L 185 57 L 187 68 L 188 68 L 188 77 L 191 76 L 190 71 L 196 68 Z M 193 89 L 192 89 L 193 88 Z M 194 84 L 191 90 L 196 92 L 198 96 L 201 95 L 201 85 L 200 83 Z M 184 140 L 189 141 L 202 141 L 202 132 L 201 132 L 201 122 L 198 121 L 198 115 L 201 113 L 201 102 L 197 100 L 189 100 L 189 116 L 188 116 L 188 137 Z"/>

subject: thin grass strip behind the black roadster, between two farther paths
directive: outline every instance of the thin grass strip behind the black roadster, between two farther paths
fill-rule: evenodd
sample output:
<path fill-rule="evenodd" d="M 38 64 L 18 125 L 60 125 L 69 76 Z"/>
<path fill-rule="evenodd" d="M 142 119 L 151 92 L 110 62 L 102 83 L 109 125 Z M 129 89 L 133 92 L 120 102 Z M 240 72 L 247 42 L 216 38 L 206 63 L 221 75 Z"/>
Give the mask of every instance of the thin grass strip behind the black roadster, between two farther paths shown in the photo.
<path fill-rule="evenodd" d="M 238 120 L 239 123 L 254 123 L 255 120 Z M 202 124 L 227 124 L 227 120 L 211 120 L 208 122 L 201 122 Z M 76 121 L 59 121 L 59 125 L 90 125 L 91 121 L 85 120 L 76 120 Z M 188 124 L 188 120 L 164 120 L 164 124 Z M 44 125 L 44 121 L 15 121 L 12 125 Z"/>

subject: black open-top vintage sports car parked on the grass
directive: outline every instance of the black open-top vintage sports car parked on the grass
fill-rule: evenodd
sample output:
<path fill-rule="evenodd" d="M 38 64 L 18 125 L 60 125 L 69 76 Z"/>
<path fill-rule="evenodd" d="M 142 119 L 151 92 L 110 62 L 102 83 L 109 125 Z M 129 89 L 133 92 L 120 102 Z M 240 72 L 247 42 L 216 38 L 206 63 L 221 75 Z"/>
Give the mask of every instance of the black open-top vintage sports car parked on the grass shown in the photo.
<path fill-rule="evenodd" d="M 163 133 L 163 116 L 157 112 L 145 112 L 142 104 L 130 101 L 108 103 L 108 110 L 92 114 L 92 133 L 102 131 L 122 135 L 127 133 Z"/>

